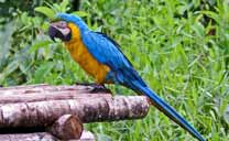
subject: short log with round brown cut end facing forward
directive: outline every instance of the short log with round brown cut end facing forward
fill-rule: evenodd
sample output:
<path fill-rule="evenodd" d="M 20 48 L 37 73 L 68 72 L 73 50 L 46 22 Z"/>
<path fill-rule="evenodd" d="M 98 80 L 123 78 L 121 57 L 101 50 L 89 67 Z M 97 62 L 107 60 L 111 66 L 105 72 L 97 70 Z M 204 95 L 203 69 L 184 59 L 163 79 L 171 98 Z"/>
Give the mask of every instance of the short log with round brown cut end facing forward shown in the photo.
<path fill-rule="evenodd" d="M 64 115 L 53 123 L 48 132 L 62 140 L 79 139 L 83 123 L 76 116 Z"/>

